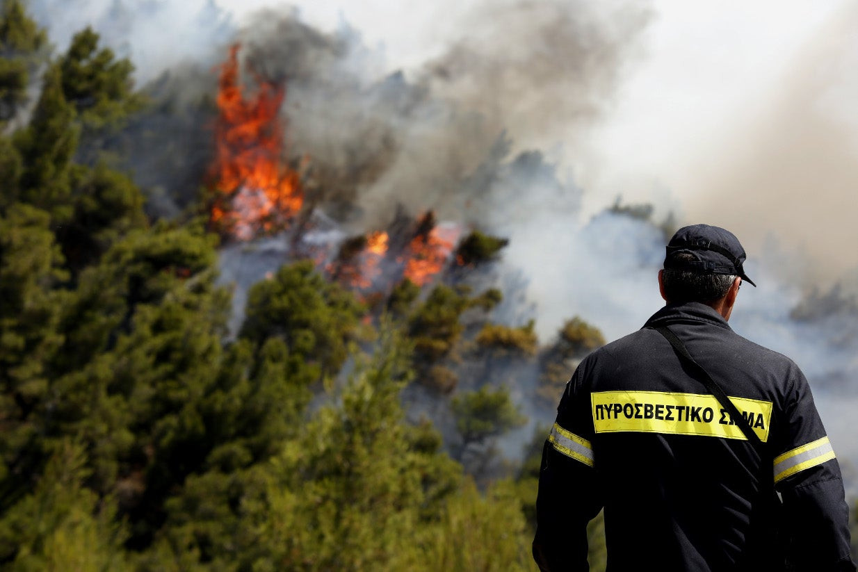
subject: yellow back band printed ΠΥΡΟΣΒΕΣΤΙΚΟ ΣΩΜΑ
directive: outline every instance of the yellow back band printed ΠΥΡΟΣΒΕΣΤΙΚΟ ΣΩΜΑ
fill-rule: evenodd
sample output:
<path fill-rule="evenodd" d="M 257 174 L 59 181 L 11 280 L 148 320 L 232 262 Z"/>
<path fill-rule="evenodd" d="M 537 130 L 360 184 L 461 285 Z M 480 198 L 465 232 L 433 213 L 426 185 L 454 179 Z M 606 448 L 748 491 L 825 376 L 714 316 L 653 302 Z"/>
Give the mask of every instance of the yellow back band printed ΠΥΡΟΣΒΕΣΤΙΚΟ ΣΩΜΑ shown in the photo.
<path fill-rule="evenodd" d="M 730 397 L 760 441 L 769 439 L 771 401 Z M 631 431 L 724 437 L 746 441 L 715 395 L 662 391 L 599 391 L 591 394 L 596 433 Z"/>

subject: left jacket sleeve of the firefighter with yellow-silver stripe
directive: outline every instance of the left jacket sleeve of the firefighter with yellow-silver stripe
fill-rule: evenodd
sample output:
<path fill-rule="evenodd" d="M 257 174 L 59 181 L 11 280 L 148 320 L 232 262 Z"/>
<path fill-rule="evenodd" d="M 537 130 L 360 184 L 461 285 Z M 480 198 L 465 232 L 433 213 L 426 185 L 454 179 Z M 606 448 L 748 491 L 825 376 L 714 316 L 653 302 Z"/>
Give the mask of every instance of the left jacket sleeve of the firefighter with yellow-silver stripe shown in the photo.
<path fill-rule="evenodd" d="M 588 570 L 587 523 L 601 510 L 593 419 L 581 390 L 583 364 L 566 384 L 542 448 L 533 555 L 541 570 Z"/>

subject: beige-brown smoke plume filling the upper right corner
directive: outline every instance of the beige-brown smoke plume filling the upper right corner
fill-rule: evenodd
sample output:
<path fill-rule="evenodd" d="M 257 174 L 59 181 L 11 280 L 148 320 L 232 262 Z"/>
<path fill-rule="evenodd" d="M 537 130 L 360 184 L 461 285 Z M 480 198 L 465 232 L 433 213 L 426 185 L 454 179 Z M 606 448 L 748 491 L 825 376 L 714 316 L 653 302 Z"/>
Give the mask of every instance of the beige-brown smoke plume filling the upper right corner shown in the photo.
<path fill-rule="evenodd" d="M 722 220 L 758 249 L 779 237 L 795 254 L 782 274 L 806 288 L 831 286 L 858 265 L 858 250 L 843 248 L 858 208 L 856 54 L 858 4 L 843 3 L 770 92 L 706 134 L 704 159 L 686 176 L 700 190 L 690 214 Z"/>

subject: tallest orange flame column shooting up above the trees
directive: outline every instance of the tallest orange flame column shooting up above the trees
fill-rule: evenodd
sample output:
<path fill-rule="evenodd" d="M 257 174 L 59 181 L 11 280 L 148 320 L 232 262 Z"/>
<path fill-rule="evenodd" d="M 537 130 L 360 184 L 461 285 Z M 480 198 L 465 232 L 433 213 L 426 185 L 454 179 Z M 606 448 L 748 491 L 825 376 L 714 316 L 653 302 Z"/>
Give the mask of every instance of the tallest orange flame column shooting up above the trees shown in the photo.
<path fill-rule="evenodd" d="M 245 99 L 239 86 L 239 45 L 221 65 L 217 95 L 215 188 L 222 193 L 211 220 L 240 239 L 285 226 L 303 202 L 298 173 L 282 165 L 285 89 L 262 81 Z"/>

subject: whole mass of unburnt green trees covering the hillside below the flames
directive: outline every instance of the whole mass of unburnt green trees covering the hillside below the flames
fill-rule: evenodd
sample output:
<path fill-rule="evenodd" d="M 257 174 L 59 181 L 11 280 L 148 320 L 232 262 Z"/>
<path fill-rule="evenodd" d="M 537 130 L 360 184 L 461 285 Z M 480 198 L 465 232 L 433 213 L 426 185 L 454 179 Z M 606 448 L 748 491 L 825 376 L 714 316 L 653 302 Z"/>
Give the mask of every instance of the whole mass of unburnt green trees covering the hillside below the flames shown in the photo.
<path fill-rule="evenodd" d="M 0 12 L 8 117 L 46 45 L 21 5 Z M 100 155 L 141 104 L 130 63 L 84 30 L 42 67 L 0 135 L 4 569 L 527 569 L 523 485 L 478 491 L 400 394 L 456 387 L 462 316 L 500 292 L 405 280 L 367 357 L 364 307 L 299 262 L 251 288 L 233 339 L 217 239 L 150 224 Z M 480 340 L 529 352 L 532 326 L 507 329 Z M 475 440 L 522 422 L 506 394 L 460 401 Z"/>

